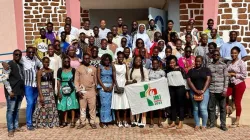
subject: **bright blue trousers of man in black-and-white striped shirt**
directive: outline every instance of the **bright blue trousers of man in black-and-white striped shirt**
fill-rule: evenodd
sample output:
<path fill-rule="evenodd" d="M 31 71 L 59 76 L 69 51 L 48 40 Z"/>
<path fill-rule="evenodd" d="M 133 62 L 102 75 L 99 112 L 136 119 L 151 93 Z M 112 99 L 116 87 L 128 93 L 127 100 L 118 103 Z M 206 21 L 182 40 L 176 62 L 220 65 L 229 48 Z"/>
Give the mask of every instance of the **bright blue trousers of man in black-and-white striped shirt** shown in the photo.
<path fill-rule="evenodd" d="M 27 127 L 31 127 L 33 126 L 32 115 L 35 111 L 37 97 L 38 97 L 37 87 L 25 86 L 25 97 L 27 101 L 26 124 Z"/>

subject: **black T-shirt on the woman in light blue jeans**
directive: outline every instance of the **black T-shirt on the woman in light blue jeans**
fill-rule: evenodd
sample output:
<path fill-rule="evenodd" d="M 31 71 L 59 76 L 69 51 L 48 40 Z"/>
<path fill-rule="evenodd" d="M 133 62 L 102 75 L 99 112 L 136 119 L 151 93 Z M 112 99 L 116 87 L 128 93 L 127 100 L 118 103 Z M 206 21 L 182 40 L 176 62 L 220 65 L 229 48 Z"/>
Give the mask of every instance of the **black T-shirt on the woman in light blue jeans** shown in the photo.
<path fill-rule="evenodd" d="M 192 68 L 188 71 L 187 78 L 190 78 L 197 90 L 202 90 L 207 80 L 207 76 L 211 76 L 210 69 L 206 67 Z"/>

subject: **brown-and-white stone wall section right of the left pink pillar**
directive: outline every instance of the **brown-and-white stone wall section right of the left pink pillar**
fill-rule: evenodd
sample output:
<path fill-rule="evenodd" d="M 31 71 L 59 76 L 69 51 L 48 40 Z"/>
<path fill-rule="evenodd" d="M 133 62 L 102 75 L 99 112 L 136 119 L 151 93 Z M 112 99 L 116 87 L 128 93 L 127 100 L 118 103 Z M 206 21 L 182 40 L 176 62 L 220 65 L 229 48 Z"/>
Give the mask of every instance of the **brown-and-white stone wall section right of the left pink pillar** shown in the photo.
<path fill-rule="evenodd" d="M 47 22 L 54 24 L 54 30 L 64 26 L 66 17 L 65 0 L 23 0 L 24 1 L 24 32 L 26 47 L 40 36 L 39 29 L 46 27 Z M 80 8 L 80 7 L 79 7 Z"/>

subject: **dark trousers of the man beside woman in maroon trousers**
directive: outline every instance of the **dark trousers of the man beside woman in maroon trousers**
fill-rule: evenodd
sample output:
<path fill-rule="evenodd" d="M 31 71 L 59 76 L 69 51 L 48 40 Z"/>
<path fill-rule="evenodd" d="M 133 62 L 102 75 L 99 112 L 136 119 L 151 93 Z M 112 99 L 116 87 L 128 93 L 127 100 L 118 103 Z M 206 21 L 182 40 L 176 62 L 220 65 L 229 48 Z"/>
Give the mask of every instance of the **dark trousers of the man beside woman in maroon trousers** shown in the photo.
<path fill-rule="evenodd" d="M 226 127 L 226 97 L 222 96 L 222 93 L 210 93 L 209 99 L 209 120 L 210 126 L 215 125 L 216 105 L 219 103 L 220 122 L 221 127 Z"/>

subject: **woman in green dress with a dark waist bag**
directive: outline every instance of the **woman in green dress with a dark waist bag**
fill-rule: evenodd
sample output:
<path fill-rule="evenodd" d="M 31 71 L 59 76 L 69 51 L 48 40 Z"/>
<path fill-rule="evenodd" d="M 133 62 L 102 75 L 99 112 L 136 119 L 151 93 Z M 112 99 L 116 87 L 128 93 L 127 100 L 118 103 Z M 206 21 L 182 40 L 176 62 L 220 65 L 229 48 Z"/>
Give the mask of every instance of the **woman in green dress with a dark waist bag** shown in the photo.
<path fill-rule="evenodd" d="M 65 56 L 62 60 L 63 67 L 57 71 L 57 89 L 58 104 L 57 109 L 63 112 L 63 123 L 61 128 L 67 126 L 68 112 L 71 112 L 70 128 L 75 127 L 75 110 L 79 109 L 79 103 L 76 98 L 74 78 L 75 69 L 70 67 L 70 58 Z"/>

